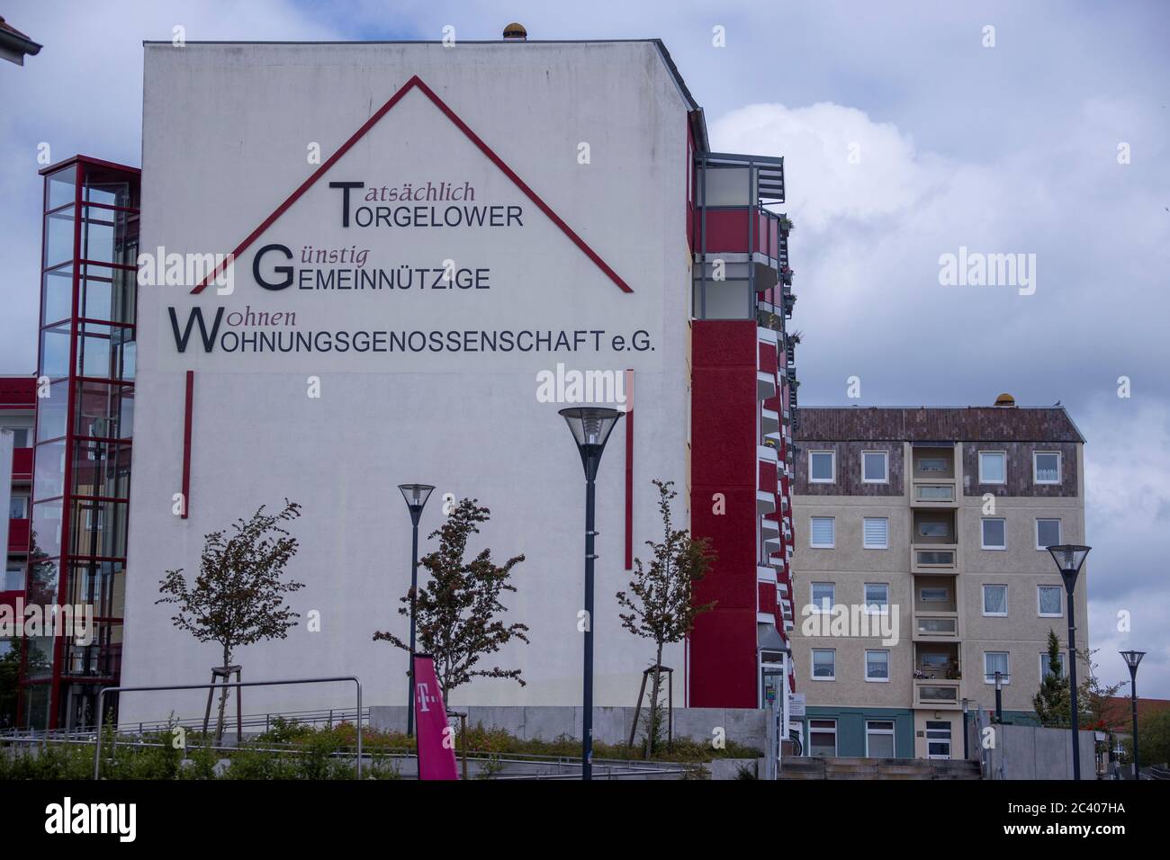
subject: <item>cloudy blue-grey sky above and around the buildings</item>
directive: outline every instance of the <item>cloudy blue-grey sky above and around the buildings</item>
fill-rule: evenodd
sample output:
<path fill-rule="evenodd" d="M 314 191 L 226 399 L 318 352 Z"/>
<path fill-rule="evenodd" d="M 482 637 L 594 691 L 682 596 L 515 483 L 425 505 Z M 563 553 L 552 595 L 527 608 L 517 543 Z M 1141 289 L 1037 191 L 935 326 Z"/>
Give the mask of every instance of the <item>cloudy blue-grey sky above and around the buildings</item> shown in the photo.
<path fill-rule="evenodd" d="M 0 15 L 44 44 L 0 68 L 7 372 L 36 357 L 37 146 L 139 163 L 143 40 L 496 39 L 511 20 L 534 39 L 663 39 L 715 149 L 786 158 L 801 403 L 1061 401 L 1088 439 L 1099 674 L 1128 677 L 1116 652 L 1145 649 L 1140 692 L 1170 699 L 1170 4 L 6 0 Z M 1034 254 L 1034 293 L 941 285 L 961 247 Z"/>

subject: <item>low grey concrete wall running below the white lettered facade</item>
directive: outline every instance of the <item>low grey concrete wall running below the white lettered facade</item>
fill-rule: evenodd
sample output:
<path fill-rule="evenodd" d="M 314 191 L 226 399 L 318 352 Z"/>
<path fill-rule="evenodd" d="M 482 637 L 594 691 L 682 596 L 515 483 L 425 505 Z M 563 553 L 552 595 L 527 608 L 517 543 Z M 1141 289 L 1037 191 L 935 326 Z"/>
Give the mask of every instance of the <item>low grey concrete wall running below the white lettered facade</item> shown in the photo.
<path fill-rule="evenodd" d="M 553 706 L 470 706 L 468 725 L 482 723 L 486 729 L 505 729 L 523 741 L 556 741 L 558 737 L 581 736 L 581 709 Z M 646 727 L 646 709 L 638 721 L 638 738 Z M 618 744 L 629 739 L 633 708 L 593 708 L 593 741 Z M 768 714 L 755 708 L 675 708 L 674 736 L 709 743 L 716 730 L 723 729 L 728 741 L 765 748 Z M 374 706 L 370 708 L 370 725 L 374 729 L 405 731 L 405 706 Z M 638 739 L 635 738 L 635 741 Z"/>

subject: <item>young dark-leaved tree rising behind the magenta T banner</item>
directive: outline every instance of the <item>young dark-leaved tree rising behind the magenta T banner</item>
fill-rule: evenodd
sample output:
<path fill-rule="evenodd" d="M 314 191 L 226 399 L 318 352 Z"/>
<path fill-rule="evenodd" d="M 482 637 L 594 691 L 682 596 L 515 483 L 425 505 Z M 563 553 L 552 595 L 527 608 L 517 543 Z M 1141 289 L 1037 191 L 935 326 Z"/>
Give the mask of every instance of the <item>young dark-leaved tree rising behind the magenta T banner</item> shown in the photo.
<path fill-rule="evenodd" d="M 460 500 L 442 527 L 428 535 L 439 538 L 439 549 L 420 559 L 431 577 L 414 596 L 418 642 L 421 653 L 434 658 L 445 703 L 453 689 L 473 677 L 510 677 L 524 686 L 519 669 L 476 668 L 481 658 L 500 651 L 512 639 L 528 642 L 526 625 L 509 625 L 496 618 L 508 611 L 500 603 L 500 594 L 516 591 L 508 579 L 524 556 L 514 556 L 498 566 L 491 560 L 491 550 L 486 549 L 470 562 L 464 560 L 468 538 L 490 516 L 491 511 L 481 508 L 479 500 Z M 411 597 L 408 590 L 398 610 L 406 618 L 411 617 Z M 393 633 L 378 631 L 373 639 L 410 652 L 410 644 Z"/>

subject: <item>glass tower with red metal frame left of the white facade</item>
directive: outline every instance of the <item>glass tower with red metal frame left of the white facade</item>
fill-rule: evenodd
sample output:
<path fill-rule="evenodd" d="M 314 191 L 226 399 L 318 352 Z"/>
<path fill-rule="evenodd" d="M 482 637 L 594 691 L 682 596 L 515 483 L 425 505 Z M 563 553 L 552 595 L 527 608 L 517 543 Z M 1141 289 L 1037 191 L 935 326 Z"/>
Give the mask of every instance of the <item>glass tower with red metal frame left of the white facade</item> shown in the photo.
<path fill-rule="evenodd" d="M 26 638 L 20 720 L 94 725 L 122 658 L 140 171 L 76 156 L 44 177 L 26 594 L 90 607 L 91 638 Z"/>

